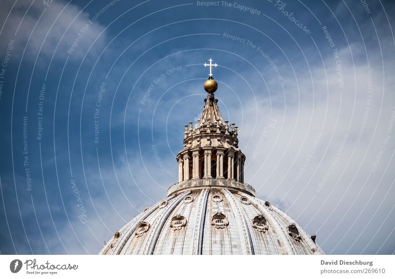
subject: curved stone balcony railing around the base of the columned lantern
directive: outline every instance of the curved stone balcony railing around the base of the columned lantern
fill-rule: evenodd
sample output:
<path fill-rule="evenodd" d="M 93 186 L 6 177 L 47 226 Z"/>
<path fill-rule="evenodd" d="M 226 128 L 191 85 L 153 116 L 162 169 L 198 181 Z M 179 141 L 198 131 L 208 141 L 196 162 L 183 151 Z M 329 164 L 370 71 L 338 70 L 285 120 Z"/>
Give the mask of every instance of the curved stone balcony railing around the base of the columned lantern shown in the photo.
<path fill-rule="evenodd" d="M 170 186 L 170 188 L 167 190 L 167 196 L 171 196 L 187 190 L 203 188 L 227 188 L 244 192 L 255 197 L 255 189 L 251 185 L 239 182 L 235 179 L 225 178 L 198 178 L 181 181 Z"/>

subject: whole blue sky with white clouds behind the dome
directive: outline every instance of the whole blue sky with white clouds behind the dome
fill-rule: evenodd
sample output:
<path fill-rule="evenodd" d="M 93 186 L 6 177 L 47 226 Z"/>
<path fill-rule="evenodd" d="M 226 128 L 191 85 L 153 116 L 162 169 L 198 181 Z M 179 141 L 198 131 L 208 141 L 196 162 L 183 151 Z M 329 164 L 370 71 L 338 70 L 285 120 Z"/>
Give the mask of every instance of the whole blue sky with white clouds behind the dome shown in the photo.
<path fill-rule="evenodd" d="M 163 199 L 210 58 L 256 196 L 395 253 L 394 2 L 240 2 L 0 0 L 1 254 L 97 254 Z"/>

